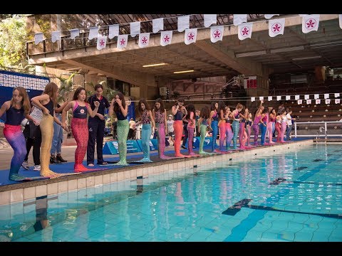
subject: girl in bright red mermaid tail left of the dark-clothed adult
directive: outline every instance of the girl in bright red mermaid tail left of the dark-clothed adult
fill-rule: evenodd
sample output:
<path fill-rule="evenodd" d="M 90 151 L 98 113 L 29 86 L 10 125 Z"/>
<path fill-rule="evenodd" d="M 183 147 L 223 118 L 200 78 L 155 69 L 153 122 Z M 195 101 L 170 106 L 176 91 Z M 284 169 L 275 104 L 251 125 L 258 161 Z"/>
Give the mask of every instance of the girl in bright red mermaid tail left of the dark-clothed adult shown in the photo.
<path fill-rule="evenodd" d="M 71 119 L 71 130 L 73 137 L 76 140 L 77 148 L 75 151 L 75 164 L 73 166 L 74 172 L 94 171 L 94 169 L 88 169 L 83 166 L 82 162 L 84 156 L 86 156 L 88 146 L 88 113 L 90 117 L 95 117 L 98 112 L 100 102 L 94 101 L 95 109 L 91 110 L 89 103 L 86 101 L 86 89 L 78 87 L 73 94 L 73 100 L 66 105 L 63 109 L 62 124 L 66 126 L 66 114 L 68 110 L 73 110 L 73 119 Z"/>

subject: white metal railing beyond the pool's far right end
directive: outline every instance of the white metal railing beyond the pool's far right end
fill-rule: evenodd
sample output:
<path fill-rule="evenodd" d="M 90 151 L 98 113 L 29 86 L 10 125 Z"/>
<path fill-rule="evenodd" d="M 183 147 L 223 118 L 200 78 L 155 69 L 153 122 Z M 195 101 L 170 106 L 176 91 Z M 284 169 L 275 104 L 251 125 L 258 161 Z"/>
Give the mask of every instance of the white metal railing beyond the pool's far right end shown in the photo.
<path fill-rule="evenodd" d="M 303 129 L 304 128 L 304 129 Z M 294 122 L 294 137 L 342 137 L 342 121 Z"/>

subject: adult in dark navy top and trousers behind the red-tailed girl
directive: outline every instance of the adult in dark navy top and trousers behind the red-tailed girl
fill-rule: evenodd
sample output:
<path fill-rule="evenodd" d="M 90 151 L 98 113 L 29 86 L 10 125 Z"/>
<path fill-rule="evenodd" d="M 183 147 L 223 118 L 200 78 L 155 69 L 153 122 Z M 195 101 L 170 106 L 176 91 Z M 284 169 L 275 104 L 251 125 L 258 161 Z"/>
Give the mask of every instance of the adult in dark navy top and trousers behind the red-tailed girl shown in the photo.
<path fill-rule="evenodd" d="M 88 117 L 89 139 L 87 146 L 87 165 L 94 166 L 94 151 L 96 142 L 97 164 L 105 165 L 103 161 L 103 136 L 105 131 L 105 109 L 109 108 L 108 100 L 103 97 L 103 86 L 100 84 L 94 87 L 95 94 L 88 98 L 92 110 L 95 110 L 95 102 L 99 102 L 98 112 L 95 117 Z"/>

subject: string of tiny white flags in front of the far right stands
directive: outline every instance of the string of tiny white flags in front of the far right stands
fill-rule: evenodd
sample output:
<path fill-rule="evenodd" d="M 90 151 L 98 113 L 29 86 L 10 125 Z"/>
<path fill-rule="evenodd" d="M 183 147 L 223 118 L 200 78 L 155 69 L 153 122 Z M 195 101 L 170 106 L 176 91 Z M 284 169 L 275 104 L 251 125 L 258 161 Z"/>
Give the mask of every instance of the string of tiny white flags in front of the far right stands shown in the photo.
<path fill-rule="evenodd" d="M 340 99 L 339 99 L 340 93 L 336 92 L 333 95 L 334 95 L 335 99 L 330 99 L 330 93 L 324 93 L 323 94 L 323 99 L 320 98 L 319 94 L 314 94 L 314 99 L 310 99 L 310 96 L 312 96 L 312 95 L 285 95 L 285 100 L 296 100 L 298 105 L 303 104 L 303 100 L 306 101 L 307 105 L 311 105 L 311 102 L 313 100 L 314 100 L 314 102 L 316 104 L 321 104 L 321 102 L 323 102 L 323 100 L 324 100 L 324 102 L 327 105 L 332 103 L 332 100 L 335 101 L 335 104 L 340 104 Z M 301 99 L 301 96 L 304 96 L 304 99 Z M 282 99 L 282 97 L 284 97 L 284 95 L 283 96 L 281 96 L 281 95 L 278 95 L 278 96 L 266 96 L 266 97 L 265 96 L 260 96 L 259 100 L 266 100 L 266 98 L 267 98 L 268 101 L 272 101 L 274 99 L 279 101 L 279 100 Z M 257 97 L 251 97 L 251 102 L 254 102 L 256 99 L 257 99 Z"/>

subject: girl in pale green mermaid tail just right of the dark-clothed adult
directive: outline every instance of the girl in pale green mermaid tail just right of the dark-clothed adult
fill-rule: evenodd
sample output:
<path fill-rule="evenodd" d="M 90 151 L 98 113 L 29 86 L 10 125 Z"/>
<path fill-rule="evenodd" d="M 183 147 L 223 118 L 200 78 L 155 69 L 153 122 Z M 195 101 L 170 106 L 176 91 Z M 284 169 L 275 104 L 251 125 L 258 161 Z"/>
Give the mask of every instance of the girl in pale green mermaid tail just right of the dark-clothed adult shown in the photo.
<path fill-rule="evenodd" d="M 130 124 L 128 123 L 127 119 L 128 105 L 126 105 L 125 97 L 121 92 L 118 92 L 118 94 L 115 95 L 113 100 L 110 102 L 110 107 L 108 110 L 109 117 L 113 115 L 113 112 L 115 112 L 115 115 L 118 119 L 117 134 L 118 151 L 120 157 L 120 160 L 115 165 L 127 166 L 127 137 L 128 132 L 130 131 Z"/>

